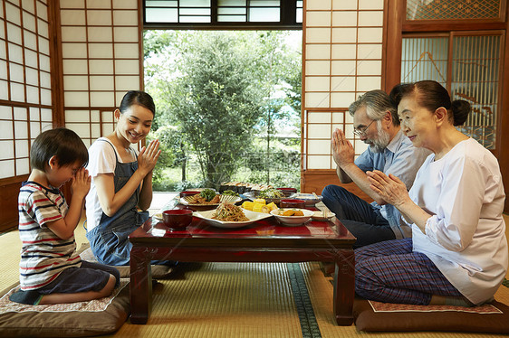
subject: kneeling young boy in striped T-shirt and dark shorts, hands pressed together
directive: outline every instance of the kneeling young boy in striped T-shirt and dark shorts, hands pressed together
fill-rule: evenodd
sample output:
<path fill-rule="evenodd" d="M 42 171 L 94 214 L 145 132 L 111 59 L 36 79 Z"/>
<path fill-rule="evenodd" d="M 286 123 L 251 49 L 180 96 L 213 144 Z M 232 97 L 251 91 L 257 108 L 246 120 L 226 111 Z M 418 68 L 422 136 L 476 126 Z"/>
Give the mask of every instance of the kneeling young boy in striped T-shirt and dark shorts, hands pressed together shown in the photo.
<path fill-rule="evenodd" d="M 110 296 L 120 283 L 116 268 L 82 261 L 74 230 L 82 217 L 91 177 L 84 169 L 87 147 L 72 130 L 37 136 L 30 151 L 32 172 L 19 193 L 21 290 L 11 301 L 30 305 L 82 302 Z M 68 207 L 59 188 L 72 180 Z"/>

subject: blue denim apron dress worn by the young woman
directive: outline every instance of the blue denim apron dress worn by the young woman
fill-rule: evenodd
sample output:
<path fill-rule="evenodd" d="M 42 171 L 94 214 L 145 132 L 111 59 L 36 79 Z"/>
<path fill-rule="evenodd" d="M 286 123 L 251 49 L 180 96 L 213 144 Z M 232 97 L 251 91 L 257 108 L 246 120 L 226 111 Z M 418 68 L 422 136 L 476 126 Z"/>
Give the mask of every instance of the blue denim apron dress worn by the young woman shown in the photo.
<path fill-rule="evenodd" d="M 120 163 L 114 146 L 105 140 L 98 141 L 107 142 L 115 152 L 117 165 L 113 180 L 115 193 L 117 193 L 138 169 L 138 161 Z M 136 192 L 130 196 L 130 199 L 113 216 L 109 217 L 102 212 L 99 225 L 87 231 L 86 236 L 91 243 L 93 255 L 100 263 L 114 266 L 130 264 L 130 249 L 132 244 L 128 236 L 149 219 L 149 211 L 138 211 L 139 191 L 140 188 L 138 186 Z"/>

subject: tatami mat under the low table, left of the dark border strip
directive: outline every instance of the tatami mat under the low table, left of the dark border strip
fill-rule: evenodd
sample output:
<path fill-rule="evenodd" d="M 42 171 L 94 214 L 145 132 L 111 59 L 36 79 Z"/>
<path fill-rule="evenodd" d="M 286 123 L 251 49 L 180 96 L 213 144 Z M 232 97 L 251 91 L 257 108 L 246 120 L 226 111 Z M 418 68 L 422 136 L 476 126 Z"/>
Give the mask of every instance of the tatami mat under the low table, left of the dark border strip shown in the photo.
<path fill-rule="evenodd" d="M 195 265 L 197 266 L 197 265 Z M 204 263 L 160 280 L 148 324 L 116 337 L 302 337 L 283 263 Z"/>

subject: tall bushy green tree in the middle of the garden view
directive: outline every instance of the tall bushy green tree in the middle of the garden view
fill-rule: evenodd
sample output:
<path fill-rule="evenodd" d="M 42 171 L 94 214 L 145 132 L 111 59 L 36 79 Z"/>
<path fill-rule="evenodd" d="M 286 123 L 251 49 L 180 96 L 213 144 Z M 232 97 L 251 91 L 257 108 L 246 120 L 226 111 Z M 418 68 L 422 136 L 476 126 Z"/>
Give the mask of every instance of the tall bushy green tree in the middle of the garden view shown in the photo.
<path fill-rule="evenodd" d="M 251 144 L 261 112 L 259 80 L 249 67 L 254 63 L 233 33 L 196 33 L 181 50 L 171 113 L 196 151 L 206 186 L 229 179 Z"/>

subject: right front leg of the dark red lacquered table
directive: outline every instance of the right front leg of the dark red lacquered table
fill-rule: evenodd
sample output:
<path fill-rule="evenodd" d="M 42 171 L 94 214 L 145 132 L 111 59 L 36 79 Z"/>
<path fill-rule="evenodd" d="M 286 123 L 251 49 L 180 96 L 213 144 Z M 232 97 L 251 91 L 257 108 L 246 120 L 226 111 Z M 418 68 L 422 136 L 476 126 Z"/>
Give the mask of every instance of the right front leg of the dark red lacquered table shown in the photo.
<path fill-rule="evenodd" d="M 353 297 L 355 296 L 355 259 L 352 249 L 338 252 L 334 271 L 333 311 L 338 325 L 353 323 Z"/>

